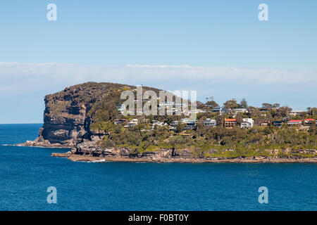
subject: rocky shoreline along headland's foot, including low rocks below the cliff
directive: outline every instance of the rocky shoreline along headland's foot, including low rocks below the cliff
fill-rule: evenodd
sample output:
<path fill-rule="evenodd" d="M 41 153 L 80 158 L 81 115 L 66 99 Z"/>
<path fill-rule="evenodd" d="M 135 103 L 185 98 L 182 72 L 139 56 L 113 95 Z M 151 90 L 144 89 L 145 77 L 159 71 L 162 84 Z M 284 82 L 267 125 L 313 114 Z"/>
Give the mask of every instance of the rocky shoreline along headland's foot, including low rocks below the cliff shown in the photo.
<path fill-rule="evenodd" d="M 15 146 L 39 148 L 70 148 L 67 153 L 52 153 L 52 157 L 68 158 L 74 162 L 158 162 L 158 163 L 317 163 L 314 158 L 240 157 L 194 158 L 190 150 L 162 149 L 143 153 L 130 153 L 126 148 L 102 149 L 96 142 L 84 141 L 76 146 L 51 144 L 49 141 L 27 141 Z"/>

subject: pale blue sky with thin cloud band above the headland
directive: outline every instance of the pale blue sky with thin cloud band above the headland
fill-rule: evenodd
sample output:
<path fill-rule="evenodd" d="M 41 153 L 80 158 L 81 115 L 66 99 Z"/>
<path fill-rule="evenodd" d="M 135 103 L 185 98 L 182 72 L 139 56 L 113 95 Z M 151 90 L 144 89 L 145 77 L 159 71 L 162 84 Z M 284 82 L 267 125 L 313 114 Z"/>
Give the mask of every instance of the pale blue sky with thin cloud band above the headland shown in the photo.
<path fill-rule="evenodd" d="M 50 3 L 57 21 L 46 20 Z M 268 21 L 258 20 L 262 3 Z M 316 8 L 314 0 L 2 1 L 0 123 L 42 122 L 45 94 L 89 80 L 194 89 L 220 104 L 317 106 Z"/>

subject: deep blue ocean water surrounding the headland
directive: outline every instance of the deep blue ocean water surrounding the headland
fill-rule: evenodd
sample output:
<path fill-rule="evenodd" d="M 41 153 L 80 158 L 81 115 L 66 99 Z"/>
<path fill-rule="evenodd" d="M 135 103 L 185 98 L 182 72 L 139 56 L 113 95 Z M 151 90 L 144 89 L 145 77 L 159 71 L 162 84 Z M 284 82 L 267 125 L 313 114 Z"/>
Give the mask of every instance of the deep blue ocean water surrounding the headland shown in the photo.
<path fill-rule="evenodd" d="M 0 124 L 0 145 L 42 124 Z M 316 164 L 71 162 L 61 148 L 0 146 L 0 210 L 317 210 Z M 55 186 L 57 203 L 46 201 Z M 259 187 L 268 188 L 260 204 Z"/>

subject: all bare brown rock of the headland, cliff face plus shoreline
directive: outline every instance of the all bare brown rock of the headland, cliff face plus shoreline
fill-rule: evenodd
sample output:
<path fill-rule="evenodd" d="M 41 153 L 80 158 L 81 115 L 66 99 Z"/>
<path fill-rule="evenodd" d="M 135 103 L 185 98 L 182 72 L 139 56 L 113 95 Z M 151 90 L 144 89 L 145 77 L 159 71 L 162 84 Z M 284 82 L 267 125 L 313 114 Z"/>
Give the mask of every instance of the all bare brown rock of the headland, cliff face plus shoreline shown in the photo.
<path fill-rule="evenodd" d="M 71 148 L 72 150 L 68 153 L 53 153 L 52 156 L 67 157 L 76 161 L 106 159 L 133 162 L 228 162 L 228 160 L 229 162 L 269 162 L 270 160 L 274 162 L 284 162 L 284 160 L 302 162 L 306 160 L 300 157 L 281 159 L 278 156 L 275 158 L 211 158 L 196 149 L 173 148 L 131 152 L 127 148 L 101 148 L 99 141 L 108 134 L 106 130 L 101 128 L 102 126 L 92 129 L 97 119 L 92 116 L 91 111 L 93 109 L 94 113 L 107 111 L 108 108 L 104 111 L 104 108 L 101 108 L 98 111 L 100 108 L 97 106 L 102 107 L 103 103 L 112 103 L 113 96 L 109 94 L 109 90 L 118 91 L 123 87 L 135 89 L 135 86 L 125 84 L 89 82 L 70 86 L 56 94 L 45 96 L 44 124 L 39 129 L 39 136 L 35 141 L 26 141 L 20 146 Z M 155 90 L 158 91 L 158 89 Z M 113 111 L 118 113 L 115 103 L 110 108 L 115 108 Z M 105 114 L 102 114 L 102 119 L 109 116 L 110 113 L 106 112 Z M 105 120 L 108 121 L 108 119 Z M 278 150 L 274 150 L 274 153 L 278 153 Z M 292 153 L 295 155 L 316 155 L 317 150 L 292 150 Z M 316 162 L 316 158 L 310 160 L 309 162 Z"/>

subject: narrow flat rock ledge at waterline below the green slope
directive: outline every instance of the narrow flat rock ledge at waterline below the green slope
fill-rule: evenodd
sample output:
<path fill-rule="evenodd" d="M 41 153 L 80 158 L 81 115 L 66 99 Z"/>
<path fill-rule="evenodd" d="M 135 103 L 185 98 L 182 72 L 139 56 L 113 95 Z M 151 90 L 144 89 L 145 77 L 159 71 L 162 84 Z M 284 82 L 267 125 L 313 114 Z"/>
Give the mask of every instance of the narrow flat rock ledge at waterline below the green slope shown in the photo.
<path fill-rule="evenodd" d="M 52 153 L 52 157 L 73 162 L 156 162 L 156 163 L 317 163 L 317 158 L 129 158 L 118 156 L 96 157 L 73 153 Z"/>

